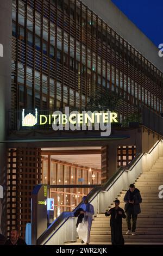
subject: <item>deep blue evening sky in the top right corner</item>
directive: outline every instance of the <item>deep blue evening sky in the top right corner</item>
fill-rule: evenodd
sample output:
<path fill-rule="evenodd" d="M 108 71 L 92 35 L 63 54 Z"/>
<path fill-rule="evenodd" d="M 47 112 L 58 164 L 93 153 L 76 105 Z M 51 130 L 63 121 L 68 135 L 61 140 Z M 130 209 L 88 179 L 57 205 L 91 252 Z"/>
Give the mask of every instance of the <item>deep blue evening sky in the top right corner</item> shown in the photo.
<path fill-rule="evenodd" d="M 163 44 L 163 0 L 111 0 L 158 47 Z"/>

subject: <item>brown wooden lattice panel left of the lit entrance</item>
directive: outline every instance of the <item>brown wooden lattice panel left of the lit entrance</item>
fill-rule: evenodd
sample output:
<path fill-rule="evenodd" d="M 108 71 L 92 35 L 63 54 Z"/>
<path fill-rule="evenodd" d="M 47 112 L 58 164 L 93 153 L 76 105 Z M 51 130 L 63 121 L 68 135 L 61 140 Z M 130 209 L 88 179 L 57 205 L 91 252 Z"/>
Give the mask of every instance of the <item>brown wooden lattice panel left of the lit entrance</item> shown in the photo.
<path fill-rule="evenodd" d="M 25 236 L 26 223 L 30 222 L 31 192 L 39 183 L 41 183 L 41 149 L 10 149 L 8 232 L 12 228 L 18 228 L 21 236 Z"/>

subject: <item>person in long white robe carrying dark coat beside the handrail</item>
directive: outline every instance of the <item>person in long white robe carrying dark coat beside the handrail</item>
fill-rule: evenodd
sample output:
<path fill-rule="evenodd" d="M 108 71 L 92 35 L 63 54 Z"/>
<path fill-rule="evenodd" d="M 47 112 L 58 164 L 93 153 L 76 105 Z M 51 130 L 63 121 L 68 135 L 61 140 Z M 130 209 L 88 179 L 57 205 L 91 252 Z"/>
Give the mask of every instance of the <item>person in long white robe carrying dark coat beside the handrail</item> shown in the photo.
<path fill-rule="evenodd" d="M 84 214 L 84 218 L 82 223 L 78 224 L 77 232 L 79 238 L 82 239 L 82 243 L 86 243 L 89 245 L 90 242 L 90 233 L 91 233 L 91 226 L 92 226 L 92 216 L 94 215 L 94 208 L 93 205 L 89 203 L 87 197 L 83 197 L 83 204 L 80 205 L 80 208 L 83 211 L 80 211 L 80 214 Z"/>

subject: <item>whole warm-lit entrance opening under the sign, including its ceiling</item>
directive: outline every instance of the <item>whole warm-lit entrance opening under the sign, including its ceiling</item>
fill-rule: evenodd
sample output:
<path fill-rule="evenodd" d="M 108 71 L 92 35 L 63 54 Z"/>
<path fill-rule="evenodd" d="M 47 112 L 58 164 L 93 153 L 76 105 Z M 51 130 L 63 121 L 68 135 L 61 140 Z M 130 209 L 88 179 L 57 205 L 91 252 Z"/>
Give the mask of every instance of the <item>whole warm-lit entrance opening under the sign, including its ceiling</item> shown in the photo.
<path fill-rule="evenodd" d="M 48 185 L 100 185 L 101 147 L 41 149 L 42 183 Z M 92 188 L 51 188 L 54 219 L 72 211 Z"/>

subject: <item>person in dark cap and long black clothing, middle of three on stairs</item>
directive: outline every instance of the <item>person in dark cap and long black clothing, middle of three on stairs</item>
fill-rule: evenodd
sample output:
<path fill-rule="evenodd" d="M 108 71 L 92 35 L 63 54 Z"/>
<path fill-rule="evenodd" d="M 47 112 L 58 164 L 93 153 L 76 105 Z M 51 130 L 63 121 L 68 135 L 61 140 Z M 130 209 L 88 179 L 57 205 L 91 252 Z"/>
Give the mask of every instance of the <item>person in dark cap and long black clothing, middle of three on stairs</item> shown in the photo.
<path fill-rule="evenodd" d="M 119 207 L 120 200 L 115 200 L 115 207 L 105 212 L 105 216 L 110 216 L 111 243 L 112 245 L 124 245 L 122 235 L 122 218 L 126 218 L 124 211 Z"/>

